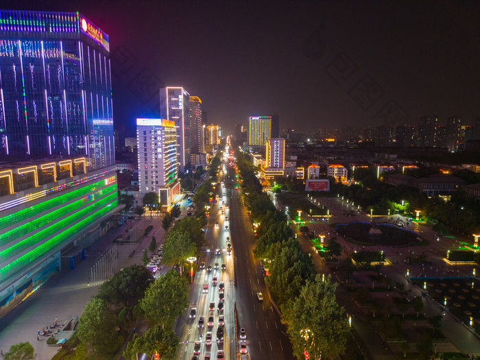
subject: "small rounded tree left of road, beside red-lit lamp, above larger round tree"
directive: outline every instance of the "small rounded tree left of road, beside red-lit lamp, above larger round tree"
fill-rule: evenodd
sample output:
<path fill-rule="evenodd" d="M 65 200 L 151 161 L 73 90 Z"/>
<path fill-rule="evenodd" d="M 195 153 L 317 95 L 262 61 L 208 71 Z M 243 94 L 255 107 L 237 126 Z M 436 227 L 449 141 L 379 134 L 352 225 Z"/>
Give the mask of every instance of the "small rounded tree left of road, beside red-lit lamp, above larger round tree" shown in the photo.
<path fill-rule="evenodd" d="M 183 272 L 185 261 L 195 255 L 197 247 L 185 232 L 175 230 L 175 227 L 169 232 L 163 243 L 162 263 L 168 266 L 180 265 L 180 275 Z"/>

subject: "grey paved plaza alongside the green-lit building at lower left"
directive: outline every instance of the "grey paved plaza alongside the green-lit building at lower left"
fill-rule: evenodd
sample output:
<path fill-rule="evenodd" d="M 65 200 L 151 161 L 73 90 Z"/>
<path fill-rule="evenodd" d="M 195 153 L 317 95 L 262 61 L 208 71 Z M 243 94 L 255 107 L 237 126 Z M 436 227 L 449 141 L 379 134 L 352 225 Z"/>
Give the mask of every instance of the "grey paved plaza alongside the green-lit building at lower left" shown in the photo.
<path fill-rule="evenodd" d="M 63 269 L 62 272 L 52 276 L 45 285 L 32 293 L 16 309 L 0 319 L 0 349 L 7 352 L 12 344 L 29 341 L 34 346 L 37 359 L 51 359 L 58 351 L 58 346 L 47 345 L 47 337 L 41 335 L 37 340 L 38 331 L 41 332 L 42 328 L 53 324 L 56 318 L 58 318 L 58 324 L 62 324 L 71 317 L 80 317 L 85 305 L 93 296 L 93 286 L 88 283 L 91 267 L 97 263 L 99 256 L 110 250 L 113 245 L 112 240 L 124 234 L 128 227 L 138 224 L 139 229 L 144 230 L 152 225 L 154 228 L 141 243 L 117 245 L 118 269 L 135 263 L 140 264 L 143 249 L 148 247 L 152 236 L 155 236 L 158 243 L 163 240 L 164 230 L 161 220 L 161 217 L 145 215 L 133 220 L 131 225 L 125 224 L 110 230 L 88 250 L 86 259 L 78 263 L 75 269 Z M 137 245 L 139 245 L 138 250 L 129 257 Z M 162 272 L 167 272 L 167 269 L 164 267 Z"/>

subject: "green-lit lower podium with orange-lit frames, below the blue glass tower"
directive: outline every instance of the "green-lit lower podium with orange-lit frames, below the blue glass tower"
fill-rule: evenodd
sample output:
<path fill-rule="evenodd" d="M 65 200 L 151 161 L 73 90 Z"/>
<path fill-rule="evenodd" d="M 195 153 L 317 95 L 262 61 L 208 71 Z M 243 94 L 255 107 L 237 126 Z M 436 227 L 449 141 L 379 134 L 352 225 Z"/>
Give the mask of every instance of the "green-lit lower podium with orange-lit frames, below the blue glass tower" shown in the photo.
<path fill-rule="evenodd" d="M 85 259 L 121 210 L 115 166 L 88 171 L 87 163 L 0 168 L 0 317 L 62 266 Z"/>

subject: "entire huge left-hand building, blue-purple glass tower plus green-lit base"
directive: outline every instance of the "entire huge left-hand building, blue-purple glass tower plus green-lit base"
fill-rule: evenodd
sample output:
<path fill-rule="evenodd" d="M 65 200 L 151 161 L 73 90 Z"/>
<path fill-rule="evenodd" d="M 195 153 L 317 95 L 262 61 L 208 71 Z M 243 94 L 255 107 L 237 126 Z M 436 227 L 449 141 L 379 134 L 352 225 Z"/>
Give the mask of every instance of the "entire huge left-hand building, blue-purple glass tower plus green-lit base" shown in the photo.
<path fill-rule="evenodd" d="M 0 316 L 110 227 L 108 36 L 78 12 L 0 10 Z"/>

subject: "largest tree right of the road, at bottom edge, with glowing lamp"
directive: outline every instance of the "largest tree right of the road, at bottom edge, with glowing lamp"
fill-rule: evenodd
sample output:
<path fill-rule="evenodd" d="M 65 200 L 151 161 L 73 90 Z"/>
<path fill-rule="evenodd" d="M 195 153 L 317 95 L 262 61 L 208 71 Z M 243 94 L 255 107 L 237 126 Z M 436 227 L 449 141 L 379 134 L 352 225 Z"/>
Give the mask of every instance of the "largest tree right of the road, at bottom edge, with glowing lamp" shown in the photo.
<path fill-rule="evenodd" d="M 335 358 L 346 350 L 348 324 L 344 309 L 336 302 L 335 289 L 329 275 L 322 281 L 320 275 L 307 281 L 300 296 L 282 307 L 284 324 L 293 344 L 293 354 L 299 359 L 304 350 L 310 359 L 322 355 Z"/>

